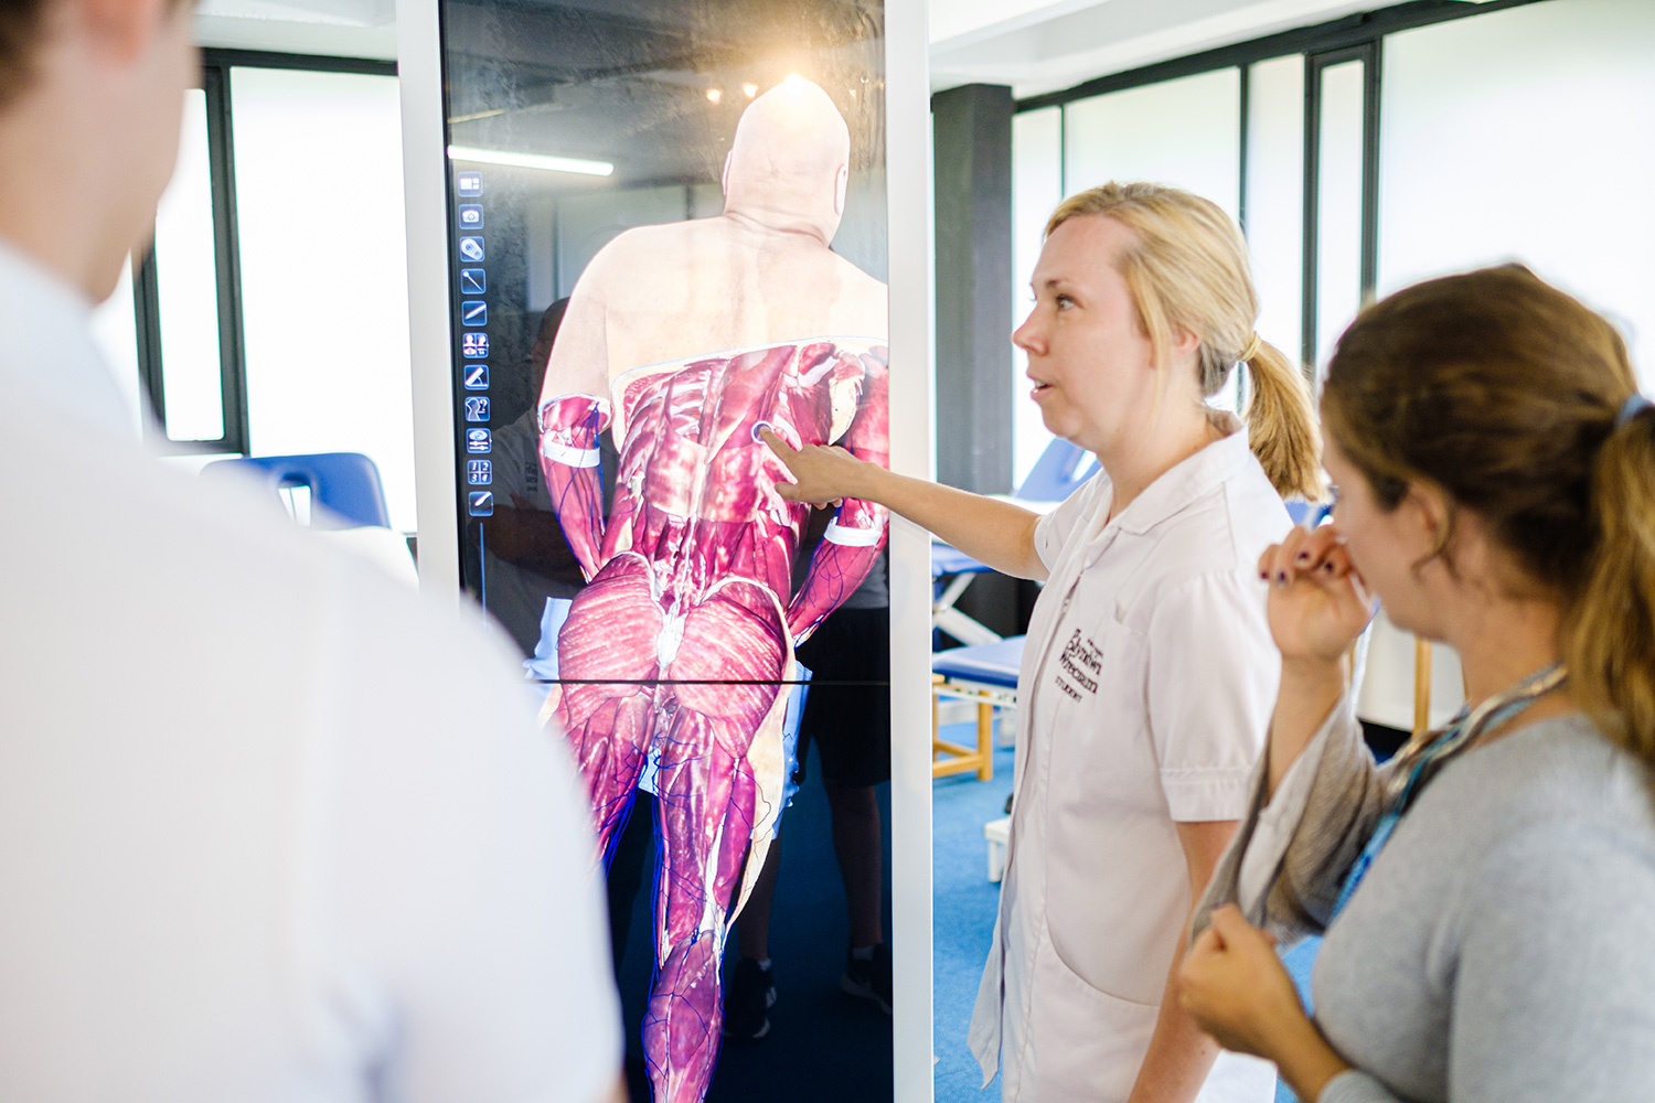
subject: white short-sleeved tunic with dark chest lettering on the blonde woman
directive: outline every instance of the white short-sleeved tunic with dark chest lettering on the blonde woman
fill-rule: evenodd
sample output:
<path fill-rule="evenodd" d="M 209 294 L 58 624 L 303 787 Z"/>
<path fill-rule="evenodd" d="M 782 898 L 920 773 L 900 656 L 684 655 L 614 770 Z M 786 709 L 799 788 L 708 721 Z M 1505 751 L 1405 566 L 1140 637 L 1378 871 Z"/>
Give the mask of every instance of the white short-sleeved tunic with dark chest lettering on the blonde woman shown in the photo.
<path fill-rule="evenodd" d="M 1235 432 L 1114 521 L 1102 473 L 1039 521 L 1049 571 L 1018 676 L 1016 799 L 995 944 L 971 1015 L 1008 1103 L 1132 1091 L 1190 875 L 1175 822 L 1235 820 L 1279 657 L 1258 557 L 1291 528 Z M 1202 1103 L 1268 1103 L 1266 1062 L 1221 1053 Z"/>

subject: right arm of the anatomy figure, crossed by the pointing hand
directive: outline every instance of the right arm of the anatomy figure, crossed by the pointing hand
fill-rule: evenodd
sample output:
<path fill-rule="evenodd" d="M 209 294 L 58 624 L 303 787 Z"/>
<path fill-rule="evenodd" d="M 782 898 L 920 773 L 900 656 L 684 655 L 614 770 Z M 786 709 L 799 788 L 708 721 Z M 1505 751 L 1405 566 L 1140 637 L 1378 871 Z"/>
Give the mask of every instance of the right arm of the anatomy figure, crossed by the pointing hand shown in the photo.
<path fill-rule="evenodd" d="M 861 400 L 842 443 L 859 461 L 884 468 L 890 461 L 887 370 L 872 357 L 864 357 L 864 364 L 867 374 L 862 377 Z M 784 486 L 786 483 L 778 483 L 778 489 Z M 862 498 L 839 501 L 823 542 L 811 556 L 809 574 L 788 607 L 788 632 L 794 645 L 809 638 L 816 625 L 862 585 L 885 546 L 889 521 L 890 513 L 879 503 Z"/>

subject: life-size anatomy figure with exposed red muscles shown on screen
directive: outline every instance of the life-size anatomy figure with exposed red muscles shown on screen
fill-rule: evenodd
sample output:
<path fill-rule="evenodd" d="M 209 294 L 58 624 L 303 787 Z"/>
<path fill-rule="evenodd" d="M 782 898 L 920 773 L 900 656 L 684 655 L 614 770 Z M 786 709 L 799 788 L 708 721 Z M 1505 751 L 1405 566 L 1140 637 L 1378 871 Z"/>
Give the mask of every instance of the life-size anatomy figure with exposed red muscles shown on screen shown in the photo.
<path fill-rule="evenodd" d="M 725 210 L 627 230 L 581 273 L 541 400 L 541 463 L 589 585 L 558 638 L 548 711 L 588 784 L 597 853 L 657 795 L 659 1103 L 698 1103 L 723 1019 L 720 959 L 781 814 L 793 648 L 867 575 L 885 511 L 844 501 L 794 592 L 809 514 L 760 443 L 839 442 L 885 463 L 885 286 L 829 243 L 851 136 L 788 78 L 741 114 Z M 599 435 L 619 451 L 607 519 Z M 720 685 L 723 683 L 723 685 Z"/>

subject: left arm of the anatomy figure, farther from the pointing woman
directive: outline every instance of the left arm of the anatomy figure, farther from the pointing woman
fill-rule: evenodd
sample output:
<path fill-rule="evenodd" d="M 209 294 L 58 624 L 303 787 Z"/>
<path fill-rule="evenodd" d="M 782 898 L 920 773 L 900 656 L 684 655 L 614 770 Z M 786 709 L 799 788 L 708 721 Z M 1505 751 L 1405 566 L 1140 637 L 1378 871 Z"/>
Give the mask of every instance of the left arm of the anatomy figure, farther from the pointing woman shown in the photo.
<path fill-rule="evenodd" d="M 609 425 L 609 344 L 604 337 L 602 260 L 581 275 L 551 346 L 540 392 L 540 470 L 569 549 L 589 582 L 604 546 L 604 488 L 597 438 Z"/>

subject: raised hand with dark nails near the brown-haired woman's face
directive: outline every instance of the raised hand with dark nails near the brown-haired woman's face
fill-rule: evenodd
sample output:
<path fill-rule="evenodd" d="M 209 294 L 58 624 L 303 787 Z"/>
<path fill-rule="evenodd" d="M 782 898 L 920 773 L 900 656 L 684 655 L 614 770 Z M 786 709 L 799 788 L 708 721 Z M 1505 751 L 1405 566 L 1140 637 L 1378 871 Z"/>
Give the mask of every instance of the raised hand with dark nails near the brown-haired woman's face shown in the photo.
<path fill-rule="evenodd" d="M 1259 556 L 1258 574 L 1269 580 L 1269 633 L 1286 661 L 1341 661 L 1379 607 L 1337 524 L 1293 529 Z"/>

